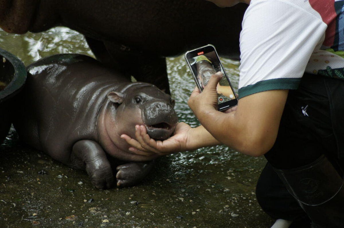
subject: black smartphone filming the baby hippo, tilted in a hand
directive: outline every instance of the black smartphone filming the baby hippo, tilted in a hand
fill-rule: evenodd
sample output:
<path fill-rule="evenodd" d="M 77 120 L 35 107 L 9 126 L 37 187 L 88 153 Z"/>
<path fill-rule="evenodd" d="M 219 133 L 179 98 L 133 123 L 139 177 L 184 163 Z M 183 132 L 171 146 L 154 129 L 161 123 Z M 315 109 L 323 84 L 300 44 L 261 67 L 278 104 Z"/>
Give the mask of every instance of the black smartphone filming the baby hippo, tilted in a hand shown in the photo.
<path fill-rule="evenodd" d="M 213 45 L 208 44 L 187 51 L 185 60 L 201 92 L 208 84 L 211 75 L 218 71 L 222 72 L 223 77 L 217 85 L 217 110 L 224 111 L 238 105 L 238 98 Z"/>

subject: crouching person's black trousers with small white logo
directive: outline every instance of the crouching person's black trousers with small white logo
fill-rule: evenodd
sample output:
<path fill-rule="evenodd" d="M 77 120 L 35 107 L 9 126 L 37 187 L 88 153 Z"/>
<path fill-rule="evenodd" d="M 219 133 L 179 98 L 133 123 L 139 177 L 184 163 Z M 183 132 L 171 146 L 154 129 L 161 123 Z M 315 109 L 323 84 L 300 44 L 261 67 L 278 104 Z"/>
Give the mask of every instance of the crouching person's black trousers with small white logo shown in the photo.
<path fill-rule="evenodd" d="M 344 81 L 305 74 L 288 94 L 275 145 L 265 155 L 268 163 L 256 188 L 262 209 L 273 218 L 304 216 L 271 166 L 297 168 L 322 154 L 344 168 Z"/>

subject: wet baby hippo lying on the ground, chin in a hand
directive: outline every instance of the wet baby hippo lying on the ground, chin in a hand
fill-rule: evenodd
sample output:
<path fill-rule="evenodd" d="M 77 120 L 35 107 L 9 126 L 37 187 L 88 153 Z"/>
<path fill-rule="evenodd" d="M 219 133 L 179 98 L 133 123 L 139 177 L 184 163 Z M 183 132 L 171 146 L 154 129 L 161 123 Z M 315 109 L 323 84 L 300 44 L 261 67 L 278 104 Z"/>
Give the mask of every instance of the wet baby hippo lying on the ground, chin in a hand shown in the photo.
<path fill-rule="evenodd" d="M 130 153 L 120 135 L 135 137 L 135 125 L 145 124 L 151 137 L 168 138 L 178 121 L 169 95 L 83 55 L 51 56 L 27 69 L 13 120 L 21 141 L 86 170 L 99 189 L 115 183 L 118 164 L 119 187 L 147 175 L 157 156 Z"/>

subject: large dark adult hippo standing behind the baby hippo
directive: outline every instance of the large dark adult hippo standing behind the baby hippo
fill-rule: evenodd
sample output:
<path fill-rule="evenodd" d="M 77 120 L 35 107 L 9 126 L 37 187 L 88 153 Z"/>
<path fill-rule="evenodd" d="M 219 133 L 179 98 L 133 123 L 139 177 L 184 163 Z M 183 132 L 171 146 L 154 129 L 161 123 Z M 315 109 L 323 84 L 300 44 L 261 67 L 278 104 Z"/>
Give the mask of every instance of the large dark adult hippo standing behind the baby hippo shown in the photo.
<path fill-rule="evenodd" d="M 98 60 L 169 93 L 165 57 L 206 44 L 238 57 L 246 8 L 205 0 L 0 0 L 0 27 L 19 34 L 75 29 Z"/>

